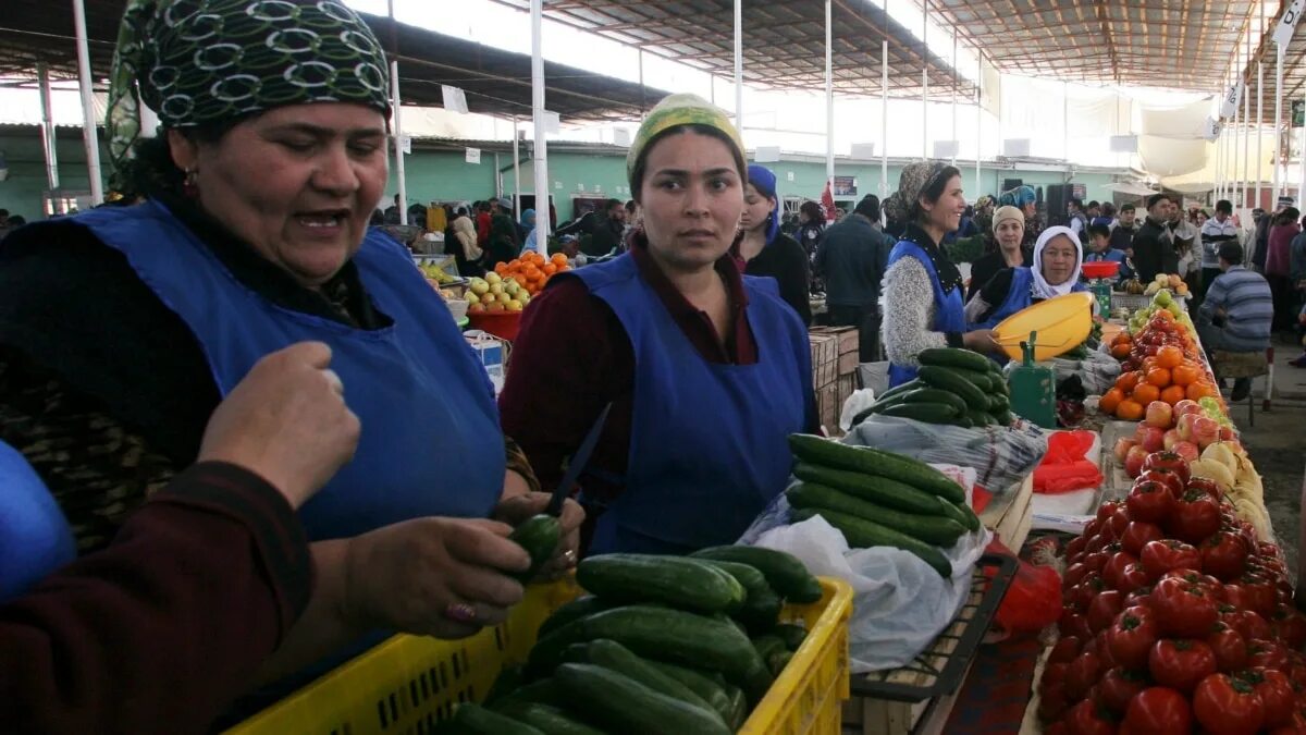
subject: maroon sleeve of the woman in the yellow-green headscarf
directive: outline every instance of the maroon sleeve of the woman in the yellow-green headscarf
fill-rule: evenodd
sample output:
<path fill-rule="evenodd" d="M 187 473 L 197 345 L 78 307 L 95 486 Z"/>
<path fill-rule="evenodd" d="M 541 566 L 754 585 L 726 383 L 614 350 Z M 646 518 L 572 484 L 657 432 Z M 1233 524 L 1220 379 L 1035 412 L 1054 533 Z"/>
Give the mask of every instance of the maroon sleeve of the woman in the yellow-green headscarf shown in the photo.
<path fill-rule="evenodd" d="M 551 490 L 607 402 L 590 468 L 626 472 L 635 353 L 616 314 L 580 279 L 558 279 L 522 315 L 499 396 L 503 430 Z M 593 484 L 593 481 L 592 481 Z M 589 485 L 586 485 L 589 487 Z"/>

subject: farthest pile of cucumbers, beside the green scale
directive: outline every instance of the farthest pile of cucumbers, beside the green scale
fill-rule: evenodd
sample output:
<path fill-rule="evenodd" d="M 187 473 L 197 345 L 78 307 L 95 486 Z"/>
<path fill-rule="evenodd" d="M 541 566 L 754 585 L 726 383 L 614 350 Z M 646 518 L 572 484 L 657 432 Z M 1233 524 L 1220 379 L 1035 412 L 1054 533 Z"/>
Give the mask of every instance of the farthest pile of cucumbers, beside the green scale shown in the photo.
<path fill-rule="evenodd" d="M 996 362 L 951 347 L 923 349 L 917 357 L 917 377 L 882 394 L 855 422 L 880 413 L 965 428 L 1011 425 L 1007 379 Z"/>

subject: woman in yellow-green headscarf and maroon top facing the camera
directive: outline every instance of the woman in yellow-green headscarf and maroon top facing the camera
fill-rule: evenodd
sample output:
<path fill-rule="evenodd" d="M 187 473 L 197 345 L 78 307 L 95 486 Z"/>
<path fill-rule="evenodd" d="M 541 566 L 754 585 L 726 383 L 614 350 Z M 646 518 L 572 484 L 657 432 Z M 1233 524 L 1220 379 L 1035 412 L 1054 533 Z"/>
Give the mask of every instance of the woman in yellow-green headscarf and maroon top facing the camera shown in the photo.
<path fill-rule="evenodd" d="M 725 112 L 667 97 L 626 166 L 641 229 L 532 303 L 504 428 L 547 487 L 611 407 L 581 480 L 589 553 L 729 544 L 785 489 L 786 437 L 815 428 L 807 330 L 730 255 L 750 179 Z"/>

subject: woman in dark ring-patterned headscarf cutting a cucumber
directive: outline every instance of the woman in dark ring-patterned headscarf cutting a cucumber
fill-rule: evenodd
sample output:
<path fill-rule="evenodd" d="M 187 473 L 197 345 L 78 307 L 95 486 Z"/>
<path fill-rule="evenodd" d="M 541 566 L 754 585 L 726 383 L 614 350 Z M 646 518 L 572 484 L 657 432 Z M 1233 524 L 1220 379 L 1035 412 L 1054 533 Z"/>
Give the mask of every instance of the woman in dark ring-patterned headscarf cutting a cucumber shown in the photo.
<path fill-rule="evenodd" d="M 503 620 L 503 536 L 547 498 L 504 449 L 494 392 L 404 247 L 385 186 L 387 60 L 337 0 L 132 0 L 114 59 L 115 186 L 145 197 L 42 222 L 0 252 L 0 439 L 50 487 L 81 552 L 191 464 L 260 357 L 330 347 L 363 425 L 299 513 L 316 591 L 265 675 L 376 629 L 461 637 Z M 142 137 L 140 105 L 161 135 Z M 551 572 L 575 557 L 580 509 Z M 294 620 L 291 617 L 290 620 Z"/>

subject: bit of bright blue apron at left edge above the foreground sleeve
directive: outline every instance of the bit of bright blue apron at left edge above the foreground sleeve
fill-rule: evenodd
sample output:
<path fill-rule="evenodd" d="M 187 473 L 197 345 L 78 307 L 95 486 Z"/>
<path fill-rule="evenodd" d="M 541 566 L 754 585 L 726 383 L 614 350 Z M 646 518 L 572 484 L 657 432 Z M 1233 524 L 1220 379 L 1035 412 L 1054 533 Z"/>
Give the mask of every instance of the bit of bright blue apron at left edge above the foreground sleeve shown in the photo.
<path fill-rule="evenodd" d="M 0 442 L 0 602 L 77 556 L 73 531 L 22 454 Z"/>

